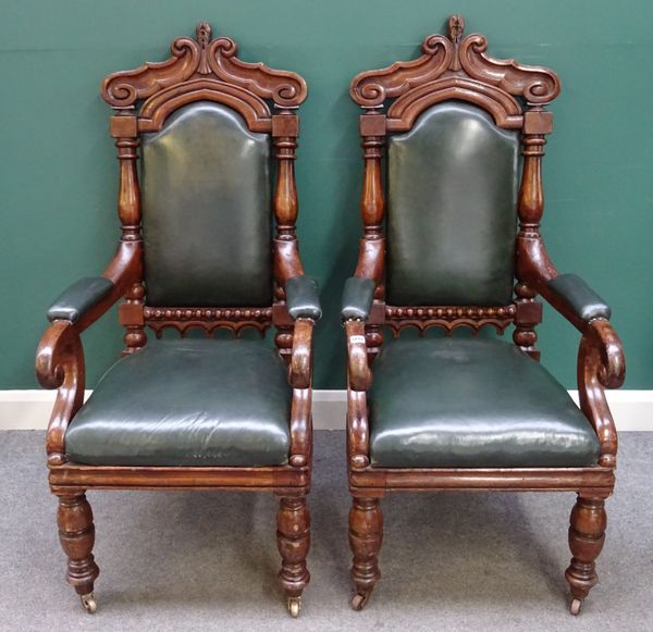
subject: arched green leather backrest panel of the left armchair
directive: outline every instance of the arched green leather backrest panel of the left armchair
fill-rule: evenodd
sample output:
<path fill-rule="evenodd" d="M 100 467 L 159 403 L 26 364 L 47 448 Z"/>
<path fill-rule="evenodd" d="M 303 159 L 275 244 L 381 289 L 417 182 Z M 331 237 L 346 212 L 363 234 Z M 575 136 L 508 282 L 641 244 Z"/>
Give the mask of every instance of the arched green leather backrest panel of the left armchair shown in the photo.
<path fill-rule="evenodd" d="M 198 101 L 143 135 L 143 234 L 152 306 L 272 302 L 269 137 Z"/>

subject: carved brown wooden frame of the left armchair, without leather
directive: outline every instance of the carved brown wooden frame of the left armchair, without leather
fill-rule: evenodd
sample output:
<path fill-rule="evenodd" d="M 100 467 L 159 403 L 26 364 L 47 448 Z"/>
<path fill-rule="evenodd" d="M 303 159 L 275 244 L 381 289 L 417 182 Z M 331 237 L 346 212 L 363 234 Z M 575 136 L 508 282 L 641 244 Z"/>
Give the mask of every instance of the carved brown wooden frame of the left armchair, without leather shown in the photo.
<path fill-rule="evenodd" d="M 199 24 L 196 39 L 173 41 L 172 57 L 147 63 L 135 71 L 108 76 L 102 98 L 114 109 L 111 136 L 115 138 L 120 163 L 118 213 L 122 237 L 118 252 L 103 272 L 113 289 L 77 322 L 57 320 L 40 340 L 36 373 L 46 388 L 58 388 L 47 432 L 49 483 L 59 497 L 59 533 L 69 558 L 67 581 L 81 595 L 88 611 L 95 611 L 93 596 L 98 567 L 94 561 L 94 523 L 87 490 L 237 490 L 273 492 L 280 497 L 278 545 L 282 556 L 281 584 L 288 608 L 297 616 L 300 595 L 309 581 L 306 556 L 310 544 L 306 495 L 311 474 L 311 336 L 313 321 L 294 321 L 285 305 L 287 278 L 304 273 L 295 222 L 297 191 L 293 162 L 299 133 L 297 107 L 306 99 L 305 80 L 295 73 L 271 70 L 262 63 L 236 58 L 236 44 L 226 37 L 212 39 L 208 24 Z M 197 100 L 211 100 L 238 112 L 249 129 L 271 135 L 276 159 L 273 212 L 274 302 L 267 308 L 151 308 L 145 303 L 143 285 L 143 239 L 138 188 L 139 134 L 156 132 L 177 108 Z M 269 102 L 272 102 L 273 110 Z M 120 299 L 119 318 L 126 329 L 123 354 L 137 352 L 147 342 L 145 327 L 160 337 L 173 327 L 182 335 L 201 327 L 207 335 L 215 329 L 238 336 L 245 327 L 261 335 L 274 325 L 275 344 L 288 365 L 293 388 L 291 456 L 287 466 L 239 467 L 96 467 L 69 462 L 65 431 L 83 404 L 85 388 L 84 351 L 79 335 Z"/>

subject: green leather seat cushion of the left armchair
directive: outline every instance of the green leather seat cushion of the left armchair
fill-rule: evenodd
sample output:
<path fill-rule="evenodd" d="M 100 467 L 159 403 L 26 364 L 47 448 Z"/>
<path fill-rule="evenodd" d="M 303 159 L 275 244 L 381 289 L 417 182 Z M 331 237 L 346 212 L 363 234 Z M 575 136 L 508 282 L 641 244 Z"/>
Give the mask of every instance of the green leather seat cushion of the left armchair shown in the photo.
<path fill-rule="evenodd" d="M 289 416 L 285 364 L 262 342 L 153 340 L 101 379 L 65 450 L 98 466 L 279 466 Z"/>

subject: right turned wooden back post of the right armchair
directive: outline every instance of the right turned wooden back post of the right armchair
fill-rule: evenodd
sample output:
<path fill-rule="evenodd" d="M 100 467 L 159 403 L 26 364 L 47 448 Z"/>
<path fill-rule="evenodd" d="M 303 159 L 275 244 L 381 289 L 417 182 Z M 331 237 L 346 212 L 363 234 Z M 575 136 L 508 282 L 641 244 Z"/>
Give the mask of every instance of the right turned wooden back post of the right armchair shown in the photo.
<path fill-rule="evenodd" d="M 523 170 L 519 189 L 519 233 L 517 234 L 517 312 L 513 340 L 535 360 L 540 349 L 535 347 L 537 325 L 542 322 L 542 303 L 535 300 L 535 292 L 525 281 L 535 267 L 545 269 L 550 262 L 545 256 L 540 234 L 540 221 L 544 212 L 544 190 L 542 187 L 542 158 L 544 157 L 545 135 L 553 131 L 551 112 L 542 107 L 530 107 L 523 115 L 522 151 Z"/>

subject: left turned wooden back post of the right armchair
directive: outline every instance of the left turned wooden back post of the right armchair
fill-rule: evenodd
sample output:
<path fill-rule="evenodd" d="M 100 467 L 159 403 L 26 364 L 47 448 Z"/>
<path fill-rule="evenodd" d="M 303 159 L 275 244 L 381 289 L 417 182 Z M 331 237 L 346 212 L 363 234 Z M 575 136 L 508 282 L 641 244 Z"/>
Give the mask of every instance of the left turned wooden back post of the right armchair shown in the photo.
<path fill-rule="evenodd" d="M 360 194 L 360 216 L 364 236 L 360 244 L 360 256 L 355 276 L 367 276 L 377 283 L 375 300 L 384 300 L 385 289 L 382 282 L 385 259 L 385 239 L 383 236 L 383 218 L 385 199 L 381 161 L 385 151 L 385 115 L 379 110 L 370 109 L 360 116 L 360 136 L 365 172 Z M 383 345 L 383 330 L 380 325 L 368 324 L 365 327 L 368 349 L 368 361 L 372 362 Z"/>

